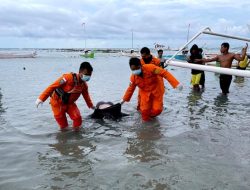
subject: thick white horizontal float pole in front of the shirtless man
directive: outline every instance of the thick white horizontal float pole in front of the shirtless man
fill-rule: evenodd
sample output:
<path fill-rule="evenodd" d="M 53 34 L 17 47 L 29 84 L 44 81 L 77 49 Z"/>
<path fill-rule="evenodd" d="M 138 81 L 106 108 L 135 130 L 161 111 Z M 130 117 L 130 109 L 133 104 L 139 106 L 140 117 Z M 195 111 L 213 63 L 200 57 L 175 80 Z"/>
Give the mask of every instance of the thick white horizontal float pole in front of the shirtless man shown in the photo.
<path fill-rule="evenodd" d="M 196 69 L 196 70 L 209 71 L 209 72 L 214 72 L 214 73 L 236 75 L 236 76 L 250 78 L 250 71 L 246 71 L 246 70 L 222 68 L 222 67 L 207 66 L 207 65 L 197 65 L 193 63 L 180 62 L 180 61 L 169 61 L 169 62 L 166 62 L 166 64 L 171 65 L 171 66 L 176 66 L 176 67 Z"/>

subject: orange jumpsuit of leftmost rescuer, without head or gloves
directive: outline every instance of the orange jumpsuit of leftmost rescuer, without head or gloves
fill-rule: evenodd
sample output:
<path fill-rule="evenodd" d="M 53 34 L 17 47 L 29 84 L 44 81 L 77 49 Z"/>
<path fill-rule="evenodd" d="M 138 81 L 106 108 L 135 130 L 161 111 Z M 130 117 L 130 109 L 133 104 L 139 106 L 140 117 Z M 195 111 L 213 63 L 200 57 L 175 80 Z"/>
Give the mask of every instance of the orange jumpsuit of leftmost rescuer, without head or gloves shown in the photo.
<path fill-rule="evenodd" d="M 73 120 L 73 127 L 78 128 L 82 124 L 82 117 L 80 111 L 75 104 L 75 101 L 82 94 L 87 106 L 89 108 L 93 107 L 93 103 L 88 93 L 88 86 L 86 82 L 83 82 L 77 76 L 76 81 L 72 73 L 67 73 L 58 78 L 54 83 L 52 83 L 39 97 L 43 102 L 50 96 L 50 104 L 54 117 L 59 124 L 60 128 L 63 129 L 68 126 L 68 121 L 66 118 L 66 113 Z M 69 101 L 64 104 L 61 98 L 56 94 L 56 88 L 62 88 L 64 92 L 70 93 Z"/>

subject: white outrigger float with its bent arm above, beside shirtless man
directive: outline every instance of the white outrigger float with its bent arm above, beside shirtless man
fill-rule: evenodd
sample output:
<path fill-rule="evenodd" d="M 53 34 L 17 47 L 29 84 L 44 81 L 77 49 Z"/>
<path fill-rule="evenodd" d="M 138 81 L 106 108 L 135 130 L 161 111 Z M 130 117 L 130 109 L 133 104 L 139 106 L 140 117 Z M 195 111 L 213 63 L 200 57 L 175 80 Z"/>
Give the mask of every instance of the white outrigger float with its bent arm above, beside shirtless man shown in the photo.
<path fill-rule="evenodd" d="M 201 34 L 208 34 L 208 35 L 214 35 L 214 36 L 220 36 L 220 37 L 226 37 L 236 40 L 242 40 L 250 42 L 249 38 L 244 37 L 238 37 L 238 36 L 231 36 L 226 34 L 220 34 L 212 32 L 209 27 L 206 27 L 205 29 L 198 32 L 193 38 L 191 38 L 187 43 L 185 43 L 182 48 L 180 48 L 179 51 L 177 51 L 175 54 L 172 55 L 168 60 L 165 61 L 165 67 L 167 65 L 170 66 L 176 66 L 176 67 L 183 67 L 183 68 L 189 68 L 189 69 L 196 69 L 196 70 L 202 70 L 202 71 L 209 71 L 214 73 L 220 73 L 220 74 L 227 74 L 227 75 L 235 75 L 235 76 L 241 76 L 241 77 L 249 77 L 250 78 L 250 71 L 247 70 L 239 70 L 239 69 L 231 69 L 231 68 L 221 68 L 216 66 L 208 66 L 208 65 L 197 65 L 192 63 L 187 63 L 183 61 L 177 61 L 174 60 L 174 57 L 182 51 L 187 45 L 189 45 L 192 41 L 194 41 L 197 37 L 199 37 Z"/>

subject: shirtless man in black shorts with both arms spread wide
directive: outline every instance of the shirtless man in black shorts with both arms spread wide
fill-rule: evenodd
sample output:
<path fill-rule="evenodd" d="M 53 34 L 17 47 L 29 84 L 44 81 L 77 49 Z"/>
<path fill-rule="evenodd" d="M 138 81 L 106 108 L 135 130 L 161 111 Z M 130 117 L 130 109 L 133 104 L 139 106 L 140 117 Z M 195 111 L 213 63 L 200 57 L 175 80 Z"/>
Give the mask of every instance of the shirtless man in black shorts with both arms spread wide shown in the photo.
<path fill-rule="evenodd" d="M 217 55 L 210 59 L 195 59 L 195 62 L 202 61 L 203 63 L 217 61 L 220 62 L 222 68 L 231 68 L 233 60 L 242 61 L 246 56 L 248 44 L 242 48 L 242 54 L 235 54 L 228 52 L 229 43 L 224 42 L 221 44 L 220 52 L 221 55 Z M 229 93 L 229 87 L 232 81 L 232 75 L 220 74 L 220 88 L 224 95 Z"/>

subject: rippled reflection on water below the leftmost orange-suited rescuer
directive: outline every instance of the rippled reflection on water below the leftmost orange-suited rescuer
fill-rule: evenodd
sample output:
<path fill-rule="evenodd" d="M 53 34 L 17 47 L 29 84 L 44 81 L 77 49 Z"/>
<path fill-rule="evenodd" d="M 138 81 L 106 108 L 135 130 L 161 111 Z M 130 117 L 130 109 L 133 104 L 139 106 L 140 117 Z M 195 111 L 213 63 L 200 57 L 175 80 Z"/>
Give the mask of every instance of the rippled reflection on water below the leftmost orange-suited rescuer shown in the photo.
<path fill-rule="evenodd" d="M 86 188 L 93 176 L 88 155 L 96 150 L 96 146 L 81 132 L 75 131 L 58 132 L 56 141 L 49 144 L 50 149 L 45 154 L 38 155 L 39 164 L 46 172 L 44 178 L 51 184 L 43 185 L 43 188 Z"/>

